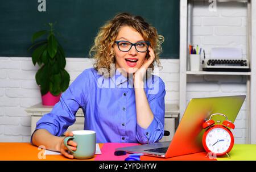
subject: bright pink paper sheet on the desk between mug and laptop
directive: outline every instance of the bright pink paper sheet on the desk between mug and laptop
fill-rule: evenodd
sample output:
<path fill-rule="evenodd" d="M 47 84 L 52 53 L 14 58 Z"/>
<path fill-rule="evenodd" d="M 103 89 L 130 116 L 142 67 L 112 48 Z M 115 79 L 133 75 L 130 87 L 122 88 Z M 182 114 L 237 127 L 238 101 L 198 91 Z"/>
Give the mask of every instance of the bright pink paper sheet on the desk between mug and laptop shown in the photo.
<path fill-rule="evenodd" d="M 97 154 L 94 158 L 94 161 L 123 161 L 126 157 L 129 156 L 127 153 L 124 156 L 115 156 L 114 152 L 116 148 L 122 148 L 126 146 L 136 146 L 138 143 L 114 143 L 108 142 L 105 143 L 101 148 L 101 154 Z"/>

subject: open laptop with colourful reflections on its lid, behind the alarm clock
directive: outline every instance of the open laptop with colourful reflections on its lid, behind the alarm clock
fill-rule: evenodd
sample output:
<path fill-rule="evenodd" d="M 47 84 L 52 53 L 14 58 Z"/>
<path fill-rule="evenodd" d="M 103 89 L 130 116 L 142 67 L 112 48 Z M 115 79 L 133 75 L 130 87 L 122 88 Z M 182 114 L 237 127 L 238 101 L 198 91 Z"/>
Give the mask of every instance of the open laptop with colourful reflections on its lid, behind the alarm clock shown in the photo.
<path fill-rule="evenodd" d="M 127 153 L 143 153 L 147 156 L 170 158 L 185 154 L 204 152 L 202 137 L 205 129 L 202 125 L 211 114 L 225 114 L 232 123 L 245 101 L 245 95 L 228 97 L 192 98 L 180 120 L 175 135 L 171 141 L 155 142 L 137 146 L 117 148 Z M 226 120 L 224 116 L 214 115 L 214 121 Z"/>

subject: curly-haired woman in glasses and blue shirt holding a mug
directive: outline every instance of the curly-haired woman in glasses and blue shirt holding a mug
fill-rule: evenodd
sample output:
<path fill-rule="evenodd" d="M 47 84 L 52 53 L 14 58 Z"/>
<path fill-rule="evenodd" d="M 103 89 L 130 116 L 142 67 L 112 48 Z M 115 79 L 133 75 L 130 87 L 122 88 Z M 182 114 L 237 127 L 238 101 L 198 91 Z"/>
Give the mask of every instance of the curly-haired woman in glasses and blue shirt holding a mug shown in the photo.
<path fill-rule="evenodd" d="M 38 121 L 32 144 L 73 158 L 59 136 L 75 123 L 79 108 L 85 114 L 84 129 L 96 131 L 97 142 L 147 144 L 162 139 L 165 86 L 147 73 L 154 70 L 154 62 L 159 65 L 162 42 L 163 36 L 141 16 L 122 13 L 107 22 L 90 50 L 94 68 L 84 70 Z M 68 145 L 76 150 L 76 142 Z"/>

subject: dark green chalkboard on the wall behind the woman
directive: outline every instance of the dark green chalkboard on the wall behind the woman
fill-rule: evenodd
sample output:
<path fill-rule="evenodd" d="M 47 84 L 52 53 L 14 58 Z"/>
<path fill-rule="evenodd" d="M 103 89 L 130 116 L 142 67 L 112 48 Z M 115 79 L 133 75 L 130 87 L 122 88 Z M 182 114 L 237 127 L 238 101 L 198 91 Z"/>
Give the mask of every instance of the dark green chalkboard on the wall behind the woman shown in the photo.
<path fill-rule="evenodd" d="M 27 48 L 34 32 L 56 22 L 67 57 L 88 57 L 98 28 L 118 12 L 141 15 L 165 37 L 160 58 L 179 58 L 179 1 L 177 0 L 38 0 L 1 1 L 0 56 L 30 57 Z"/>

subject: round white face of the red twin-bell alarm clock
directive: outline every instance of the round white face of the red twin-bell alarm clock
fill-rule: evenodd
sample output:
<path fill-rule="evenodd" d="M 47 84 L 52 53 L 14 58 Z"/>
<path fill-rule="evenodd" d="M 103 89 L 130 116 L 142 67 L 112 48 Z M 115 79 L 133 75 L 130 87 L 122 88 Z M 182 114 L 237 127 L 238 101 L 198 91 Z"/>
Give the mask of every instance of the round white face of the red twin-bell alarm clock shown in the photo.
<path fill-rule="evenodd" d="M 206 136 L 205 143 L 213 153 L 224 153 L 229 149 L 231 137 L 223 128 L 213 128 Z"/>

